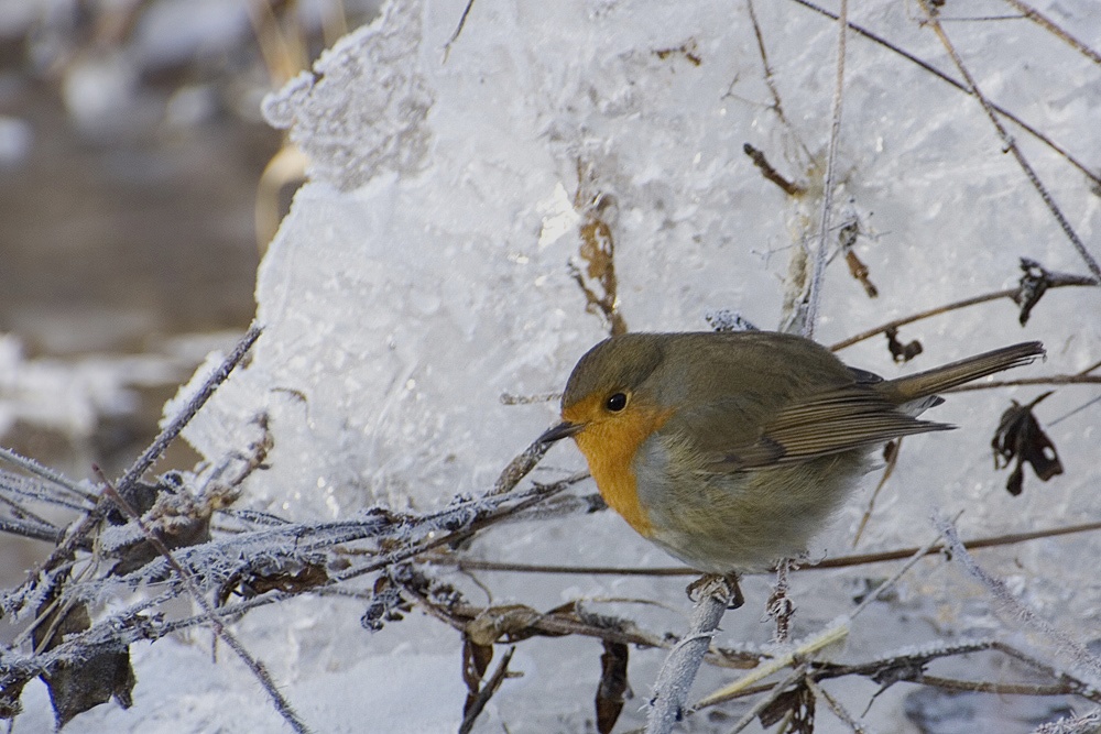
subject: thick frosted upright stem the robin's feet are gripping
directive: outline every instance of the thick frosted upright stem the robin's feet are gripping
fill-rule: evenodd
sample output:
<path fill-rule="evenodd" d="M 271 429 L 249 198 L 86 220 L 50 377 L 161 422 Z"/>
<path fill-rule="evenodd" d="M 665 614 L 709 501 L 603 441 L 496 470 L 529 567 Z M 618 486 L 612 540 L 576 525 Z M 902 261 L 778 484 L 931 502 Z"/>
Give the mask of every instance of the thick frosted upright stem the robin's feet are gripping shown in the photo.
<path fill-rule="evenodd" d="M 688 634 L 678 642 L 657 673 L 654 697 L 646 715 L 646 734 L 667 734 L 680 721 L 688 705 L 688 690 L 711 646 L 711 637 L 722 621 L 730 603 L 732 589 L 716 578 L 699 589 L 699 599 L 693 607 Z"/>

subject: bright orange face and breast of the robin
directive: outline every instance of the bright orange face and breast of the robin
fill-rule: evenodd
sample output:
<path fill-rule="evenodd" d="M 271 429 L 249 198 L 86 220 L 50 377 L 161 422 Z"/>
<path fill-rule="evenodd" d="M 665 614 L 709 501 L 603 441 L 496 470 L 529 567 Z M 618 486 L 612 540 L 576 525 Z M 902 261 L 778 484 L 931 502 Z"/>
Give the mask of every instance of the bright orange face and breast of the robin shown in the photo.
<path fill-rule="evenodd" d="M 586 405 L 587 402 L 563 412 L 563 417 L 585 423 L 579 416 L 591 415 L 590 410 L 595 407 Z M 622 415 L 588 423 L 574 436 L 604 502 L 643 537 L 652 535 L 652 527 L 648 514 L 639 502 L 633 461 L 643 441 L 659 429 L 671 415 L 672 409 L 632 406 Z"/>

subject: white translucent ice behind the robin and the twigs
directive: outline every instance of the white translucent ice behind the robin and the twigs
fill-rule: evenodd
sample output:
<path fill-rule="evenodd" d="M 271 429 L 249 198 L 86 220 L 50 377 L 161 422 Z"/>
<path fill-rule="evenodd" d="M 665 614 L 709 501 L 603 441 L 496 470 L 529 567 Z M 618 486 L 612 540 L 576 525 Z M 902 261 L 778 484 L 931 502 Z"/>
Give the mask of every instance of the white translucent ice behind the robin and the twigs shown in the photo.
<path fill-rule="evenodd" d="M 584 266 L 577 222 L 588 201 L 600 200 L 614 235 L 620 308 L 631 329 L 702 329 L 705 313 L 719 308 L 762 327 L 778 322 L 792 249 L 814 231 L 833 25 L 793 2 L 756 3 L 784 124 L 771 107 L 743 3 L 480 0 L 445 54 L 465 4 L 389 4 L 375 24 L 344 39 L 312 75 L 265 106 L 272 122 L 290 127 L 310 155 L 314 179 L 295 197 L 261 266 L 258 320 L 265 332 L 253 359 L 185 434 L 216 459 L 252 440 L 251 421 L 268 413 L 272 469 L 249 480 L 244 504 L 316 519 L 378 501 L 428 508 L 487 490 L 554 418 L 553 404 L 506 406 L 501 394 L 560 388 L 574 360 L 607 332 L 600 317 L 586 311 L 567 267 Z M 1037 6 L 1101 47 L 1092 0 Z M 852 21 L 951 72 L 915 3 L 855 3 L 852 10 Z M 1005 11 L 984 2 L 949 3 L 945 12 Z M 1098 167 L 1097 65 L 1025 21 L 945 26 L 988 95 Z M 835 221 L 859 218 L 857 252 L 881 295 L 869 299 L 837 259 L 819 340 L 1007 287 L 1021 255 L 1054 271 L 1086 272 L 973 99 L 859 37 L 849 41 L 846 90 Z M 1013 134 L 1097 256 L 1097 194 L 1066 161 L 1020 130 Z M 811 194 L 795 201 L 764 180 L 744 143 Z M 579 187 L 585 196 L 576 196 Z M 1101 352 L 1099 316 L 1098 291 L 1086 288 L 1049 293 L 1024 329 L 1009 302 L 956 311 L 902 331 L 903 340 L 920 338 L 925 346 L 904 369 L 1043 339 L 1046 364 L 1014 376 L 1076 372 Z M 881 374 L 900 373 L 879 340 L 842 355 Z M 201 371 L 193 383 L 200 379 Z M 1027 402 L 1038 390 L 1010 394 Z M 1057 418 L 1094 392 L 1060 390 L 1039 416 Z M 1005 405 L 1005 393 L 980 392 L 938 408 L 937 419 L 961 430 L 906 440 L 862 548 L 924 544 L 934 533 L 926 522 L 933 506 L 950 515 L 963 511 L 964 536 L 1101 515 L 1097 407 L 1050 429 L 1066 474 L 1048 484 L 1029 476 L 1024 494 L 1011 497 L 1004 474 L 990 469 L 990 435 Z M 544 464 L 538 475 L 552 478 L 581 460 L 562 446 Z M 824 535 L 818 555 L 848 550 L 873 483 Z M 1099 598 L 1094 569 L 1082 559 L 1099 550 L 1088 538 L 1054 539 L 980 561 L 1087 643 Z M 508 561 L 672 563 L 610 513 L 494 528 L 465 552 Z M 843 613 L 862 579 L 879 573 L 873 567 L 796 574 L 795 634 L 811 634 Z M 578 598 L 661 600 L 674 611 L 590 603 L 654 631 L 683 629 L 688 605 L 678 579 L 480 578 L 493 602 L 536 609 Z M 451 580 L 486 601 L 486 592 L 461 577 Z M 761 612 L 767 581 L 748 580 L 745 593 L 746 607 L 723 622 L 722 644 L 764 643 L 772 634 Z M 280 609 L 247 617 L 240 636 L 316 731 L 457 727 L 459 637 L 449 627 L 413 612 L 369 635 L 353 602 L 307 599 Z M 862 620 L 848 658 L 1012 627 L 1012 620 L 996 616 L 989 594 L 939 562 L 919 567 L 895 601 L 873 605 Z M 279 725 L 248 672 L 227 661 L 225 650 L 209 662 L 204 644 L 208 639 L 190 647 L 159 643 L 137 660 L 134 711 L 100 706 L 67 731 Z M 512 668 L 524 676 L 505 681 L 478 731 L 590 731 L 599 644 L 534 639 L 519 649 Z M 621 727 L 642 720 L 639 709 L 662 657 L 632 653 L 636 695 Z M 181 668 L 187 673 L 176 672 Z M 730 678 L 705 669 L 695 690 Z M 836 689 L 855 712 L 875 692 L 866 681 Z M 903 700 L 912 690 L 900 684 L 879 697 L 870 721 L 904 731 Z M 367 713 L 359 717 L 359 711 Z M 820 732 L 846 731 L 826 714 L 819 725 Z M 691 723 L 693 731 L 729 726 L 707 716 Z M 998 731 L 1007 731 L 1005 724 Z"/>

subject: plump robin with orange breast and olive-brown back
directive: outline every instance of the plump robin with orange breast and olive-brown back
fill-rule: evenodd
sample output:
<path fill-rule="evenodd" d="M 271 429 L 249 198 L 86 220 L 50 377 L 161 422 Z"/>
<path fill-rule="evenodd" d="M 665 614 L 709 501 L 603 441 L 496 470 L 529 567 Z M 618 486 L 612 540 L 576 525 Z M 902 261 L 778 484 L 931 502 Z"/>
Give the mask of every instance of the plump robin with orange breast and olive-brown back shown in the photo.
<path fill-rule="evenodd" d="M 804 552 L 876 445 L 953 428 L 916 417 L 935 393 L 1043 354 L 1031 341 L 884 380 L 793 335 L 628 333 L 578 361 L 539 441 L 571 437 L 631 527 L 737 579 Z"/>

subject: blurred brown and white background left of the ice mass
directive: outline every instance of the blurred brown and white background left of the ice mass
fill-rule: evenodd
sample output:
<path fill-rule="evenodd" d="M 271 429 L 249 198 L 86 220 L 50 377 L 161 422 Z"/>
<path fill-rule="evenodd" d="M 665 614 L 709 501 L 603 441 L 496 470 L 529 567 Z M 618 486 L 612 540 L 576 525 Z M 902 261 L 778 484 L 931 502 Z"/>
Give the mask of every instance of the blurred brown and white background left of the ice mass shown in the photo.
<path fill-rule="evenodd" d="M 150 442 L 302 180 L 261 99 L 379 4 L 0 0 L 0 445 L 86 479 Z M 0 579 L 47 549 L 0 538 Z"/>

